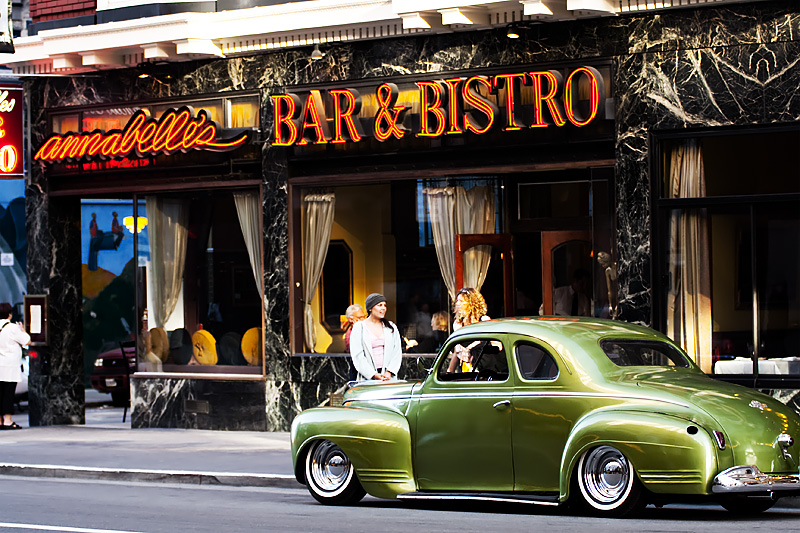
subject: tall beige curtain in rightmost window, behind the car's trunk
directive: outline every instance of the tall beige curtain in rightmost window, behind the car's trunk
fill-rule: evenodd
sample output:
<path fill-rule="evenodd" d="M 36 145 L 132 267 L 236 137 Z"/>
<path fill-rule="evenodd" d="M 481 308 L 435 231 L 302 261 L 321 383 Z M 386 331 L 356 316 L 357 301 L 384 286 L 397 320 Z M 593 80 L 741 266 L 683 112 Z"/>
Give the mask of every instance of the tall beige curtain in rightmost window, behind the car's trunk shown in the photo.
<path fill-rule="evenodd" d="M 670 157 L 670 198 L 705 196 L 703 154 L 697 141 L 676 147 Z M 673 211 L 669 224 L 670 291 L 667 335 L 711 372 L 711 274 L 705 210 Z"/>

